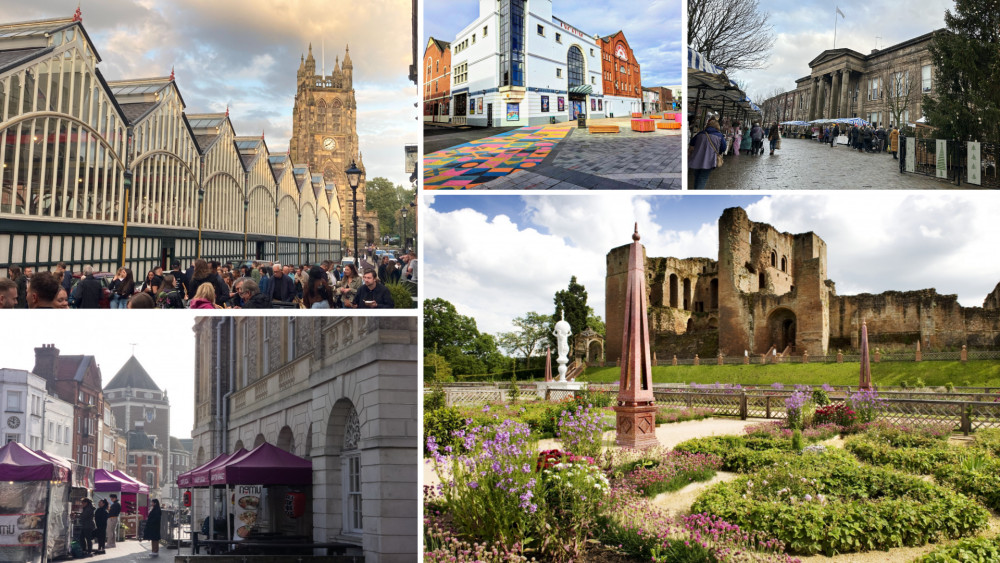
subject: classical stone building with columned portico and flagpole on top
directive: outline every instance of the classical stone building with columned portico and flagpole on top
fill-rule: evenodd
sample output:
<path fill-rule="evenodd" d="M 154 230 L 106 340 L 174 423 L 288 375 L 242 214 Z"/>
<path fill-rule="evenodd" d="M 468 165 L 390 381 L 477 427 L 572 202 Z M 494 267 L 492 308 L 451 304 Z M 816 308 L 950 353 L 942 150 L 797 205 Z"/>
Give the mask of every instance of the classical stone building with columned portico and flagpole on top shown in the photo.
<path fill-rule="evenodd" d="M 795 89 L 760 104 L 767 121 L 861 117 L 880 125 L 923 117 L 922 99 L 937 92 L 929 47 L 937 30 L 862 54 L 828 49 L 809 61 Z"/>

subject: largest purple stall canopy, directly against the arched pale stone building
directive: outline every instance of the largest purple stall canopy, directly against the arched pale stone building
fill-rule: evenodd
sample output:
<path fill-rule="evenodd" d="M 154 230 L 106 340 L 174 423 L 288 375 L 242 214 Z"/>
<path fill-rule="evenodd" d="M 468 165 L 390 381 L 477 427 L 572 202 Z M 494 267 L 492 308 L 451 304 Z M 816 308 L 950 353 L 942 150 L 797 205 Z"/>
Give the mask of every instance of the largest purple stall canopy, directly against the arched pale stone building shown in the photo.
<path fill-rule="evenodd" d="M 310 485 L 312 462 L 264 442 L 211 474 L 213 485 Z"/>

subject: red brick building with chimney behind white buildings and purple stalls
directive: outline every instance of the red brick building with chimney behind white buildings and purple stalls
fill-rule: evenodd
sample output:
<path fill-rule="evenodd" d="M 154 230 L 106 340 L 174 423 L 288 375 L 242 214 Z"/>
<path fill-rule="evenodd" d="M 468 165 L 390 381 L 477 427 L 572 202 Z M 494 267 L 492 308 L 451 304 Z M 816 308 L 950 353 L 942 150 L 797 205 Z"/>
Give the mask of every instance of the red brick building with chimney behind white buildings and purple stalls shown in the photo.
<path fill-rule="evenodd" d="M 100 423 L 104 415 L 101 368 L 93 356 L 61 356 L 54 344 L 35 348 L 32 373 L 45 378 L 49 392 L 73 405 L 73 460 L 99 468 Z"/>

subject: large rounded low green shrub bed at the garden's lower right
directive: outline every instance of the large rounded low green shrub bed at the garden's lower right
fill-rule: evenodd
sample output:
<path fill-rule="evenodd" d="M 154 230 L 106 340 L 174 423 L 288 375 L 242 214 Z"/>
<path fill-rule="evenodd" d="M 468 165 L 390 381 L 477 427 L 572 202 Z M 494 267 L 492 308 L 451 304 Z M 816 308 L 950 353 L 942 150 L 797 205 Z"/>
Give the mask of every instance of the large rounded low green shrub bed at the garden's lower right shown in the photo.
<path fill-rule="evenodd" d="M 707 489 L 691 511 L 771 534 L 796 555 L 924 545 L 976 533 L 989 519 L 974 501 L 916 476 L 827 454 L 796 457 Z"/>

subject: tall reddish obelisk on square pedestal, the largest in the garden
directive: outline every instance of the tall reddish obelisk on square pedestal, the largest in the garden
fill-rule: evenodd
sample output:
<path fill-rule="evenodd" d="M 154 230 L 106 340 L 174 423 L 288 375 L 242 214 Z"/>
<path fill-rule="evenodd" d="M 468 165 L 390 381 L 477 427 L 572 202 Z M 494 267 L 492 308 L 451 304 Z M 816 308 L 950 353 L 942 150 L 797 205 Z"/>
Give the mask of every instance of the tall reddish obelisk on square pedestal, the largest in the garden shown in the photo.
<path fill-rule="evenodd" d="M 646 316 L 646 273 L 639 246 L 639 224 L 628 251 L 625 323 L 622 335 L 621 377 L 615 406 L 617 438 L 627 448 L 648 448 L 656 441 L 653 405 L 653 367 L 649 354 L 649 318 Z"/>

